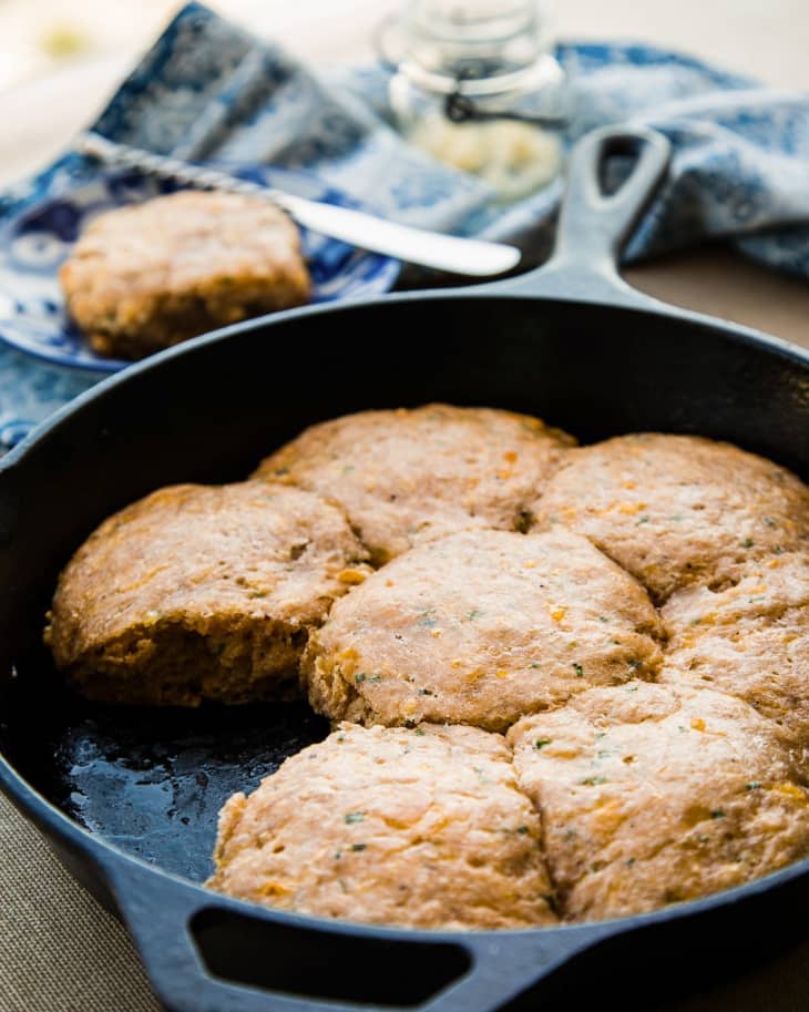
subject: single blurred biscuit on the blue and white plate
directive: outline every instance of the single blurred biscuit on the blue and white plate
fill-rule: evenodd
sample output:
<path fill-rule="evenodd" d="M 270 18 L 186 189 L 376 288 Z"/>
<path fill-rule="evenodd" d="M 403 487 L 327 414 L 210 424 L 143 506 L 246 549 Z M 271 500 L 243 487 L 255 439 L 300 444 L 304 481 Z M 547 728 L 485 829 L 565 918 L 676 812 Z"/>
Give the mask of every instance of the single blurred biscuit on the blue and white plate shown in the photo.
<path fill-rule="evenodd" d="M 309 300 L 297 227 L 267 201 L 182 191 L 99 215 L 59 273 L 101 355 L 142 358 Z"/>

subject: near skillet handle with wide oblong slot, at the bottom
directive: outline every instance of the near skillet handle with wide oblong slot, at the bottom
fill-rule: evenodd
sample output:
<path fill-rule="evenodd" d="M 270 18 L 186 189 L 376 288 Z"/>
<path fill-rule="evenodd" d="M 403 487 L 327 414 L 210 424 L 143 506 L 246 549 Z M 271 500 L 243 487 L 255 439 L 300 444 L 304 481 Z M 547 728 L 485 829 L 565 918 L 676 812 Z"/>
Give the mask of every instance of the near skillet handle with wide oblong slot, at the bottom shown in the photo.
<path fill-rule="evenodd" d="M 406 936 L 265 910 L 121 855 L 100 863 L 167 1012 L 495 1012 L 615 932 Z"/>

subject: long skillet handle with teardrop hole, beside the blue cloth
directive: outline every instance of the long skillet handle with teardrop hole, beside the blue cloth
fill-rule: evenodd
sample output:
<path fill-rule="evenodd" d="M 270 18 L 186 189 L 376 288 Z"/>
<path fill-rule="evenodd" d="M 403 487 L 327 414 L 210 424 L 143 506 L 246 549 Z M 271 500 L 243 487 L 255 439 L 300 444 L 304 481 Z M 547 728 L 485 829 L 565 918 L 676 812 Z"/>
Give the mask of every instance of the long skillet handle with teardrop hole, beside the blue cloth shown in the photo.
<path fill-rule="evenodd" d="M 623 185 L 605 194 L 601 170 L 614 154 L 634 154 L 636 161 Z M 536 270 L 498 283 L 499 290 L 628 306 L 654 304 L 622 280 L 617 258 L 659 188 L 670 155 L 668 140 L 646 126 L 604 126 L 585 134 L 571 156 L 551 258 Z"/>

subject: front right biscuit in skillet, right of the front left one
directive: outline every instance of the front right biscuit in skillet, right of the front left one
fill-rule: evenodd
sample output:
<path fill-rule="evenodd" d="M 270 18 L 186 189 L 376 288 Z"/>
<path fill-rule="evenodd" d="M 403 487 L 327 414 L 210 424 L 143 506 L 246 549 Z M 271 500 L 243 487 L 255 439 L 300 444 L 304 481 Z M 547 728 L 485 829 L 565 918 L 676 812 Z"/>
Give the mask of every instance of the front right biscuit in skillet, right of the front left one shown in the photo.
<path fill-rule="evenodd" d="M 565 918 L 656 910 L 809 853 L 809 791 L 771 724 L 710 689 L 594 688 L 514 725 Z"/>

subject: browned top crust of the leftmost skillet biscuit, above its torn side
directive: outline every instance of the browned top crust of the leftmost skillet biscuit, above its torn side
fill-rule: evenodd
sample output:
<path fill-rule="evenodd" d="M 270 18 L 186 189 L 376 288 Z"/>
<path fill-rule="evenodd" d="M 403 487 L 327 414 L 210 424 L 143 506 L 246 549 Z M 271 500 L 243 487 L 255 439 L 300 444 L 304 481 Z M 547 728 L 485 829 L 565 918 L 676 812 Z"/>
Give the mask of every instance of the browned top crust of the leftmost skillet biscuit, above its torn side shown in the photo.
<path fill-rule="evenodd" d="M 229 613 L 304 627 L 366 573 L 344 515 L 310 492 L 243 482 L 172 485 L 105 520 L 53 601 L 51 645 L 66 665 L 165 620 L 190 630 Z"/>

